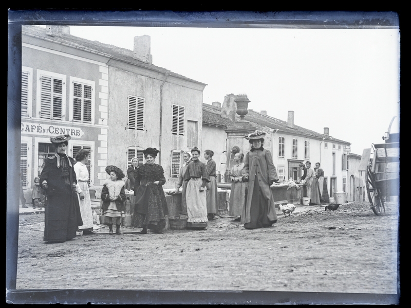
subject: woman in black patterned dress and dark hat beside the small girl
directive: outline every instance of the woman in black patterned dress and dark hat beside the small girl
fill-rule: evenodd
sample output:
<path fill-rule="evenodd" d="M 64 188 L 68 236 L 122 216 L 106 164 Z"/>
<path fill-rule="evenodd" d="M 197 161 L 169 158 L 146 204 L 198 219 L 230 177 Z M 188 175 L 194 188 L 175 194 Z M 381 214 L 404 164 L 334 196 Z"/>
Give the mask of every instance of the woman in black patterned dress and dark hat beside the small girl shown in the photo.
<path fill-rule="evenodd" d="M 165 227 L 165 215 L 169 214 L 163 185 L 165 184 L 164 170 L 154 163 L 158 151 L 156 148 L 147 148 L 143 151 L 146 163 L 140 166 L 135 176 L 134 207 L 132 225 L 143 228 L 142 234 L 151 229 L 162 233 Z"/>

